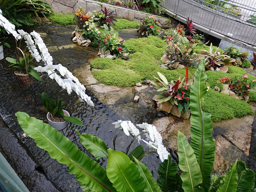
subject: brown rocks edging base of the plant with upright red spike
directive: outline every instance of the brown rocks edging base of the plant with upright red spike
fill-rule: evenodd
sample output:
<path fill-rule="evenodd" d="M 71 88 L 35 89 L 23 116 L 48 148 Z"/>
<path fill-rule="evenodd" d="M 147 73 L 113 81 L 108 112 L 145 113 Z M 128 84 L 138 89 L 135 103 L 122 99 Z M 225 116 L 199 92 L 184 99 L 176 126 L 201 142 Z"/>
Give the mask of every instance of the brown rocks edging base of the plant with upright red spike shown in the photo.
<path fill-rule="evenodd" d="M 161 100 L 161 98 L 154 96 L 152 98 L 152 100 L 158 102 Z M 190 115 L 191 115 L 190 109 L 187 112 L 185 112 L 184 110 L 179 112 L 178 106 L 172 105 L 170 102 L 164 102 L 164 103 L 157 104 L 156 110 L 157 111 L 165 111 L 165 112 L 170 113 L 178 118 L 182 117 L 184 119 L 190 118 Z"/>

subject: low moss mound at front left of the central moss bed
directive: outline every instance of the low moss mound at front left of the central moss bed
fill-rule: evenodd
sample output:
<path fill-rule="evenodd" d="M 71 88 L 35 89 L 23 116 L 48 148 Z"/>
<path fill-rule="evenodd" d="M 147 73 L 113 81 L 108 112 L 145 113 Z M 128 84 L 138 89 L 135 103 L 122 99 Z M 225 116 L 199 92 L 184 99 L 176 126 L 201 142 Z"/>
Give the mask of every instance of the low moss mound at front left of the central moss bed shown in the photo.
<path fill-rule="evenodd" d="M 129 87 L 137 82 L 142 82 L 141 77 L 132 70 L 100 70 L 92 71 L 98 83 L 114 85 L 118 87 Z"/>

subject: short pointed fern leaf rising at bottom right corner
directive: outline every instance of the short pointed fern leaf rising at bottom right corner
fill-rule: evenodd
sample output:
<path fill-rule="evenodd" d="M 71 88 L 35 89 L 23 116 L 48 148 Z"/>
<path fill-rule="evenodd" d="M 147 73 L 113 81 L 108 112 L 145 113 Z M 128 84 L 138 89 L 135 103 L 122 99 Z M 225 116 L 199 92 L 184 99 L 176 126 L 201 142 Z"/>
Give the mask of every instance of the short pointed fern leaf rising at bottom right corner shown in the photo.
<path fill-rule="evenodd" d="M 237 190 L 238 176 L 236 171 L 237 160 L 232 164 L 232 169 L 226 172 L 224 176 L 224 184 L 221 185 L 217 192 L 233 192 Z"/>

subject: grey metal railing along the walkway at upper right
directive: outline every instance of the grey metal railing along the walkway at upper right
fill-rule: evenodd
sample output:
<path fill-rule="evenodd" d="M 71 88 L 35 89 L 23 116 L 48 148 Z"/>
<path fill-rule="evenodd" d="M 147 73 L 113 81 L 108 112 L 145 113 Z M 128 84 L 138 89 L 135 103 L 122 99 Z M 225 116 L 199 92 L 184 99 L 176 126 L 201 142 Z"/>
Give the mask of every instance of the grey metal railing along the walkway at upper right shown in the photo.
<path fill-rule="evenodd" d="M 209 30 L 256 46 L 256 0 L 165 0 L 160 5 Z"/>

